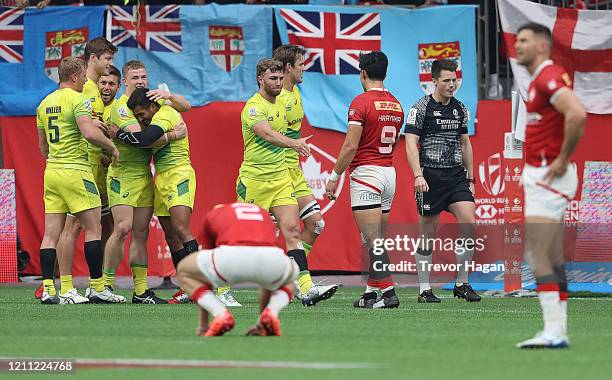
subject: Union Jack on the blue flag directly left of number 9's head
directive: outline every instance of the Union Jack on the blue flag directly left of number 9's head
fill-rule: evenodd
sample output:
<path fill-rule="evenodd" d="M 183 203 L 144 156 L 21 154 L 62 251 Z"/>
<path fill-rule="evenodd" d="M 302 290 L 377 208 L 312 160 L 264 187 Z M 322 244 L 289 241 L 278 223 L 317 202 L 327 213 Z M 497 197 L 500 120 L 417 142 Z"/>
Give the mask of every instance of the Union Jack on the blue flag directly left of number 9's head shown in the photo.
<path fill-rule="evenodd" d="M 359 74 L 359 53 L 380 50 L 378 13 L 307 12 L 281 9 L 289 43 L 306 49 L 304 69 Z"/>

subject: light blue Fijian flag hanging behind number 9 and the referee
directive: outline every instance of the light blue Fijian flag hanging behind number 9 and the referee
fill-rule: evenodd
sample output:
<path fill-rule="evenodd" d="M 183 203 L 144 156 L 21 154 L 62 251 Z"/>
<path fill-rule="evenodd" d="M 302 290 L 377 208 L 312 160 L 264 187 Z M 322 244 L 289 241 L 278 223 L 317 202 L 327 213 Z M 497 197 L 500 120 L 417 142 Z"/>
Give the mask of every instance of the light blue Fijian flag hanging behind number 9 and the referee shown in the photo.
<path fill-rule="evenodd" d="M 351 100 L 363 92 L 360 51 L 382 50 L 389 58 L 385 86 L 405 109 L 433 89 L 431 62 L 459 63 L 461 86 L 455 96 L 470 112 L 470 134 L 478 103 L 476 6 L 418 10 L 378 7 L 275 7 L 283 43 L 307 49 L 304 111 L 311 124 L 345 132 Z"/>

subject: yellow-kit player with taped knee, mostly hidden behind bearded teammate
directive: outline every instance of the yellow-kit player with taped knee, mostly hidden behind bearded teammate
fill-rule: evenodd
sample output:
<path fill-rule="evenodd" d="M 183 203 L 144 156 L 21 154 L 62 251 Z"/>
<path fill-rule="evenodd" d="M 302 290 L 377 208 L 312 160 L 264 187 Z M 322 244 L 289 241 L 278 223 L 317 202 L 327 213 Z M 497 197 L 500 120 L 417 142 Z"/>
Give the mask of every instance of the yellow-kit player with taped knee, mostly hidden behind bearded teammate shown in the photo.
<path fill-rule="evenodd" d="M 285 136 L 292 139 L 300 138 L 302 120 L 304 119 L 302 95 L 297 84 L 302 83 L 305 52 L 303 48 L 296 45 L 282 45 L 277 47 L 273 54 L 273 58 L 283 64 L 283 89 L 280 95 L 276 97 L 276 101 L 283 103 L 286 107 L 287 132 Z M 321 207 L 304 178 L 297 152 L 293 149 L 285 149 L 285 159 L 300 209 L 300 219 L 304 223 L 302 245 L 306 257 L 308 257 L 315 240 L 323 232 L 325 221 L 321 216 Z M 338 290 L 336 284 L 317 284 L 313 286 L 310 272 L 307 269 L 300 271 L 297 282 L 297 298 L 301 299 L 304 305 L 314 305 L 320 300 L 328 299 Z"/>

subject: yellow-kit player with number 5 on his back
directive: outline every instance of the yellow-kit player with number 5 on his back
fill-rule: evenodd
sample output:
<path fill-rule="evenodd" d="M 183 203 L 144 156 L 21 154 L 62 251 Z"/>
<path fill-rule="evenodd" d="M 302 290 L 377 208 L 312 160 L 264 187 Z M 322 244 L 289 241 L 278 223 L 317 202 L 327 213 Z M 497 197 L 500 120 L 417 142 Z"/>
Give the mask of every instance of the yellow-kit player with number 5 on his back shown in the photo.
<path fill-rule="evenodd" d="M 41 303 L 84 303 L 104 299 L 102 283 L 102 228 L 100 195 L 87 159 L 88 143 L 107 149 L 114 160 L 119 151 L 101 131 L 102 122 L 92 119 L 91 102 L 81 93 L 85 63 L 67 57 L 59 65 L 60 87 L 49 94 L 36 110 L 38 142 L 47 159 L 44 176 L 45 234 L 40 246 L 44 291 Z M 71 213 L 83 226 L 84 251 L 89 265 L 92 297 L 88 300 L 70 288 L 57 296 L 53 269 L 57 242 Z M 65 252 L 57 255 L 62 258 Z M 62 284 L 64 285 L 64 284 Z"/>

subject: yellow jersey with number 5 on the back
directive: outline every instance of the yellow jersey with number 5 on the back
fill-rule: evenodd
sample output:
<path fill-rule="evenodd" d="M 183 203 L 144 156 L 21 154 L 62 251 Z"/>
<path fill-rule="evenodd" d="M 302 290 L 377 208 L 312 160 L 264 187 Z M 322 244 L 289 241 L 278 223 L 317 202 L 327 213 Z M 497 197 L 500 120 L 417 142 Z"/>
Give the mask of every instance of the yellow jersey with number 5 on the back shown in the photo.
<path fill-rule="evenodd" d="M 91 117 L 91 102 L 70 88 L 53 91 L 36 109 L 36 127 L 45 131 L 49 144 L 47 167 L 91 170 L 79 116 Z"/>

